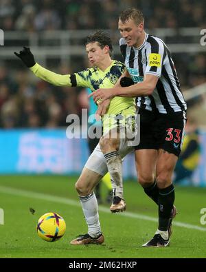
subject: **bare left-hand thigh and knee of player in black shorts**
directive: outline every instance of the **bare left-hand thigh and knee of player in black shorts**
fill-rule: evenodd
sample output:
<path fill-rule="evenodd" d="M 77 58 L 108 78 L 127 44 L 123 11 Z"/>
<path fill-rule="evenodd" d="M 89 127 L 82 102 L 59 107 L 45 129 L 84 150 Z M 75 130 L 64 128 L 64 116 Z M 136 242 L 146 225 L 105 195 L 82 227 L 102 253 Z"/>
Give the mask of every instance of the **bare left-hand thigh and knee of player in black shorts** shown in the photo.
<path fill-rule="evenodd" d="M 150 185 L 155 180 L 155 167 L 158 151 L 156 149 L 135 150 L 135 165 L 137 180 L 143 186 Z"/>

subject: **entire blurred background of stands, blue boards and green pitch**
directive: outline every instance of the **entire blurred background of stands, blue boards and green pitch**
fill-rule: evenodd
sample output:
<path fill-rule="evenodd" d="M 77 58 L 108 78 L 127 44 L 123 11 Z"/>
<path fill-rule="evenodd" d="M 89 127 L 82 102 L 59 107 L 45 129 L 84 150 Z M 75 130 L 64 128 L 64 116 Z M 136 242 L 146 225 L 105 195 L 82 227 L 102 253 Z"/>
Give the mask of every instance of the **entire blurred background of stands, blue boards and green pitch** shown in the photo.
<path fill-rule="evenodd" d="M 89 151 L 86 138 L 66 137 L 66 118 L 68 114 L 81 118 L 81 110 L 88 107 L 87 92 L 40 81 L 14 51 L 27 45 L 36 61 L 49 70 L 78 72 L 87 67 L 84 36 L 105 29 L 113 38 L 113 57 L 121 61 L 117 18 L 130 7 L 143 10 L 146 31 L 161 37 L 172 52 L 188 115 L 201 133 L 198 168 L 192 183 L 182 183 L 196 188 L 176 187 L 179 215 L 171 247 L 163 251 L 137 248 L 157 227 L 157 214 L 152 201 L 132 181 L 136 173 L 131 154 L 124 160 L 128 211 L 113 220 L 108 205 L 100 205 L 105 247 L 71 250 L 68 241 L 87 229 L 74 183 Z M 0 207 L 5 212 L 0 257 L 205 257 L 206 222 L 200 221 L 206 190 L 205 18 L 205 0 L 0 0 L 4 33 L 4 45 L 0 45 Z M 36 210 L 34 215 L 29 207 Z M 38 240 L 35 233 L 38 218 L 48 211 L 60 213 L 67 222 L 65 238 L 55 244 Z M 0 214 L 0 225 L 2 220 Z"/>

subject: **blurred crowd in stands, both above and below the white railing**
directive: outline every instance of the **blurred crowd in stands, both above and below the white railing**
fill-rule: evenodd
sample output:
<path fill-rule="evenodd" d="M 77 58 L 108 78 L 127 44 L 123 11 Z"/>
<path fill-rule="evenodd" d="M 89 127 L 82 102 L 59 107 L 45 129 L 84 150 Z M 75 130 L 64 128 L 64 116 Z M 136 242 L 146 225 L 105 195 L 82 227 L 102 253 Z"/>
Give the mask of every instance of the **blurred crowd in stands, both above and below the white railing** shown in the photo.
<path fill-rule="evenodd" d="M 0 0 L 0 29 L 117 30 L 118 14 L 128 6 L 143 10 L 150 30 L 205 28 L 205 0 Z M 205 53 L 173 54 L 173 59 L 183 92 L 205 83 Z M 49 68 L 60 74 L 77 72 L 65 64 Z M 38 80 L 20 63 L 14 70 L 0 61 L 0 128 L 67 126 L 68 114 L 80 116 L 81 109 L 87 107 L 85 94 L 79 88 L 56 87 Z"/>

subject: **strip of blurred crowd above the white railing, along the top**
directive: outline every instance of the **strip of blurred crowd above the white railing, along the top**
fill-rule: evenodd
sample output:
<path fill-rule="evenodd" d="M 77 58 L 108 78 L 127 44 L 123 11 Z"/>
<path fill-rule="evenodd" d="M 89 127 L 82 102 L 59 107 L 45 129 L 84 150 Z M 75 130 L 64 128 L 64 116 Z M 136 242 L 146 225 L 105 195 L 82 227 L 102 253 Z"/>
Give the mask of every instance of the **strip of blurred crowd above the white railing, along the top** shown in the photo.
<path fill-rule="evenodd" d="M 1 0 L 3 30 L 71 30 L 116 28 L 121 10 L 143 10 L 146 27 L 205 26 L 205 0 Z"/>

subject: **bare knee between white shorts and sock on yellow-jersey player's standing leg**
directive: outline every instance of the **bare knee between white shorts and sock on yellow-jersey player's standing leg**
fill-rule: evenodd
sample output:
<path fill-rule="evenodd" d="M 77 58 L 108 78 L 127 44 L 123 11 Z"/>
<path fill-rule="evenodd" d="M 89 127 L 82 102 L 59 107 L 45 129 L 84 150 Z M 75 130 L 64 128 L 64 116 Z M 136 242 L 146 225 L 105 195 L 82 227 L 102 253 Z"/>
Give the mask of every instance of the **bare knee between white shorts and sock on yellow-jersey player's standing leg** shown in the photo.
<path fill-rule="evenodd" d="M 87 196 L 92 193 L 95 186 L 98 184 L 102 175 L 84 167 L 82 170 L 82 174 L 78 178 L 76 182 L 76 190 L 80 194 L 80 196 Z"/>

